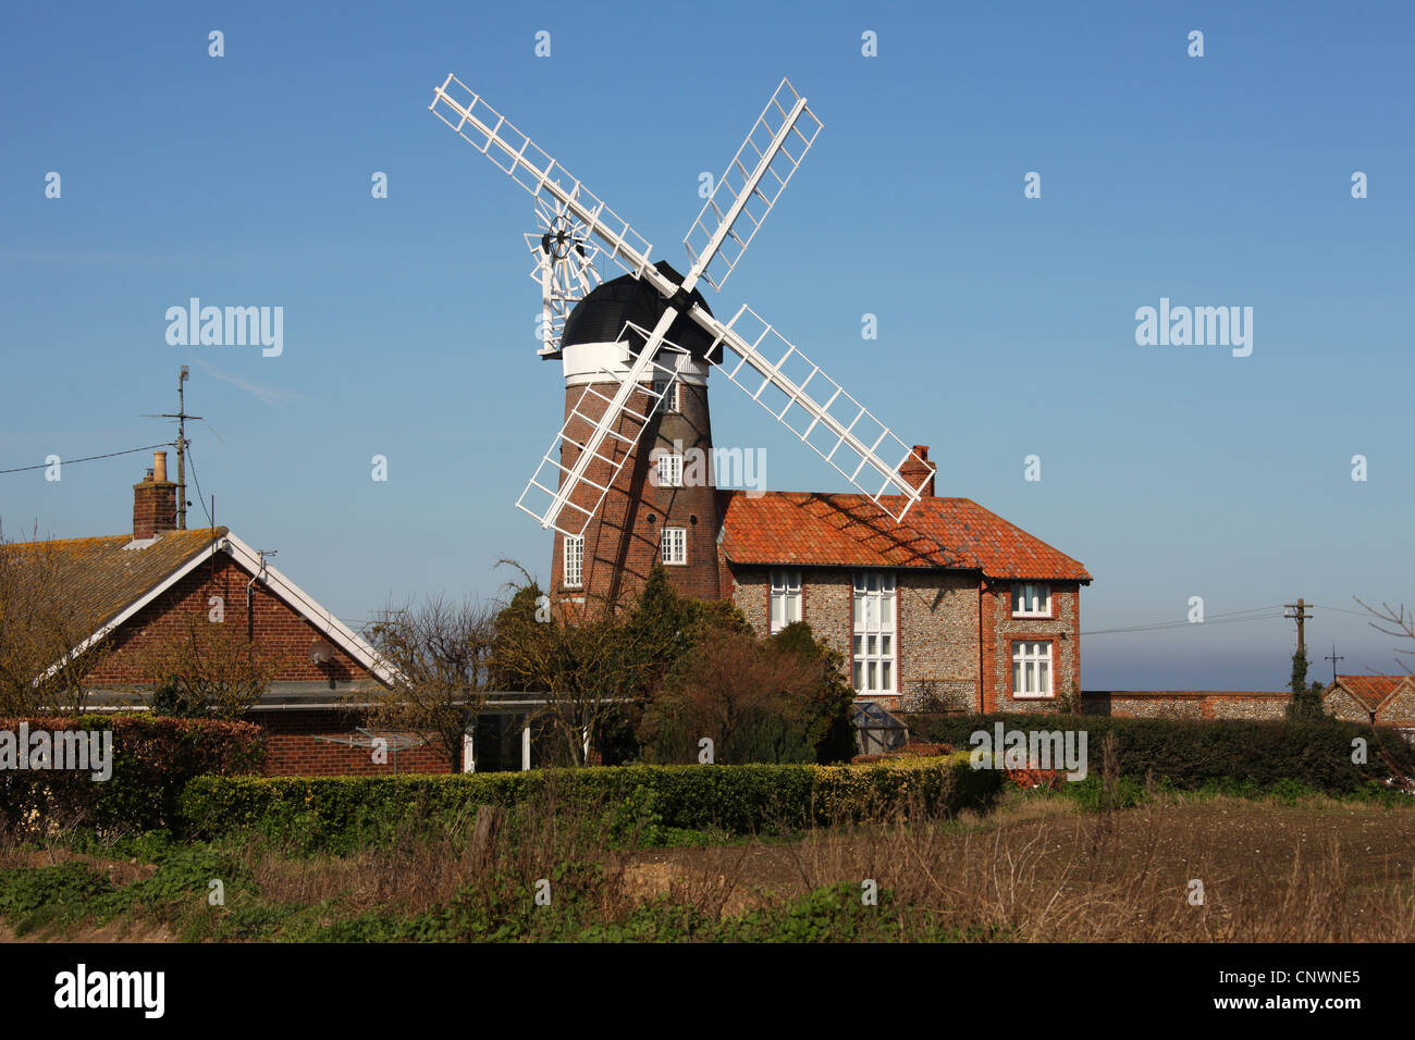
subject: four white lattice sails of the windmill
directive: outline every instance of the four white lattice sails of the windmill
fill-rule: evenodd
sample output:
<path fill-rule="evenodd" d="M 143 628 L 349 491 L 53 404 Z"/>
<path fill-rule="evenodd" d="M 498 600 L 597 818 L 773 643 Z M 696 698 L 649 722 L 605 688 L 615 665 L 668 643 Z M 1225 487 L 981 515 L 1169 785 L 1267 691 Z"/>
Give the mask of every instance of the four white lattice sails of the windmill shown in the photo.
<path fill-rule="evenodd" d="M 773 415 L 777 415 L 781 422 L 787 423 L 788 429 L 795 432 L 798 437 L 845 474 L 860 491 L 874 499 L 890 516 L 896 521 L 901 519 L 908 508 L 918 501 L 918 488 L 911 487 L 900 475 L 900 467 L 910 454 L 908 449 L 906 447 L 903 457 L 894 460 L 893 447 L 896 443 L 901 444 L 903 441 L 889 427 L 866 412 L 863 406 L 857 406 L 853 398 L 845 395 L 839 383 L 825 378 L 818 366 L 805 361 L 804 355 L 777 335 L 766 323 L 761 323 L 766 331 L 757 335 L 754 341 L 749 341 L 734 327 L 724 325 L 709 314 L 706 308 L 692 303 L 692 291 L 698 280 L 719 259 L 724 246 L 727 252 L 722 253 L 723 263 L 719 266 L 717 283 L 724 282 L 732 273 L 737 260 L 741 259 L 741 253 L 756 236 L 763 219 L 785 188 L 791 174 L 799 166 L 805 150 L 811 147 L 816 133 L 819 133 L 821 122 L 811 113 L 805 105 L 805 99 L 797 95 L 788 81 L 781 81 L 761 117 L 747 134 L 747 140 L 737 150 L 737 156 L 729 166 L 727 173 L 723 174 L 713 195 L 708 200 L 708 204 L 689 229 L 685 245 L 691 242 L 700 245 L 696 250 L 693 245 L 688 245 L 689 252 L 693 253 L 693 265 L 682 284 L 676 284 L 649 262 L 648 258 L 652 246 L 633 231 L 627 221 L 614 214 L 579 180 L 572 177 L 565 167 L 539 149 L 529 137 L 516 130 L 501 113 L 487 105 L 478 95 L 473 93 L 456 76 L 449 75 L 443 85 L 437 88 L 433 95 L 433 103 L 429 108 L 460 137 L 470 141 L 533 197 L 538 200 L 542 197 L 553 198 L 567 216 L 583 224 L 589 233 L 604 243 L 616 263 L 630 275 L 647 280 L 668 301 L 668 306 L 665 306 L 662 316 L 648 334 L 647 342 L 628 372 L 614 375 L 614 379 L 618 381 L 618 388 L 614 396 L 607 399 L 600 420 L 583 443 L 574 441 L 579 453 L 573 466 L 563 467 L 556 463 L 562 474 L 559 488 L 549 492 L 538 477 L 532 477 L 526 491 L 522 492 L 518 505 L 535 516 L 542 528 L 555 528 L 565 533 L 580 533 L 594 515 L 594 511 L 584 512 L 583 519 L 580 519 L 583 509 L 573 511 L 576 518 L 573 522 L 562 522 L 562 512 L 572 502 L 582 507 L 584 499 L 590 498 L 596 502 L 603 502 L 608 487 L 613 485 L 613 480 L 607 483 L 591 480 L 587 475 L 590 467 L 596 461 L 606 461 L 606 440 L 610 440 L 611 444 L 616 439 L 623 440 L 623 436 L 614 433 L 614 430 L 620 426 L 624 410 L 630 406 L 631 399 L 642 392 L 645 376 L 652 369 L 655 355 L 664 344 L 664 337 L 679 313 L 689 314 L 698 325 L 713 337 L 715 344 L 723 348 L 723 361 L 727 359 L 730 352 L 733 358 L 730 378 L 733 382 L 747 389 L 757 400 L 763 399 L 763 393 L 766 393 L 768 386 L 784 395 L 788 406 L 780 413 L 773 410 Z M 753 158 L 756 161 L 751 161 Z M 717 198 L 719 192 L 722 192 L 720 200 Z M 717 219 L 717 224 L 712 228 L 705 221 L 709 211 Z M 709 279 L 709 284 L 713 284 L 712 279 Z M 750 314 L 751 318 L 760 323 L 760 318 L 747 308 L 739 311 L 733 323 L 741 321 L 744 314 Z M 788 348 L 775 361 L 771 361 L 760 349 L 763 342 L 771 341 L 771 337 L 775 337 L 775 340 L 780 340 Z M 807 379 L 795 382 L 788 371 L 782 371 L 792 358 L 811 366 L 812 371 Z M 750 374 L 743 372 L 744 366 L 749 372 L 756 372 L 763 378 L 763 383 L 756 389 L 743 382 L 743 379 L 750 379 Z M 832 395 L 824 405 L 807 393 L 807 385 L 818 376 L 819 385 L 826 389 L 833 388 Z M 604 398 L 606 395 L 599 396 Z M 842 398 L 843 408 L 841 403 Z M 584 395 L 582 395 L 583 400 Z M 855 415 L 849 413 L 852 405 L 859 409 Z M 768 408 L 771 408 L 770 403 Z M 791 409 L 795 409 L 795 413 Z M 579 408 L 574 410 L 579 412 Z M 842 413 L 838 415 L 836 410 Z M 640 413 L 652 415 L 652 410 Z M 804 416 L 804 427 L 798 429 L 798 424 L 788 422 L 787 415 L 792 416 L 792 422 L 797 420 L 797 416 Z M 857 429 L 860 433 L 856 433 Z M 818 430 L 819 433 L 816 433 Z M 565 433 L 566 430 L 562 429 L 560 437 Z M 560 437 L 558 437 L 556 444 L 560 443 Z M 882 450 L 886 454 L 882 456 Z M 538 474 L 545 470 L 546 463 L 550 461 L 550 454 L 555 454 L 555 451 L 556 446 L 553 444 L 552 451 L 542 460 L 542 466 L 536 471 Z M 611 453 L 608 457 L 613 458 L 614 454 Z M 620 460 L 621 467 L 623 460 Z M 614 470 L 614 473 L 617 471 Z M 879 478 L 879 484 L 876 484 L 876 478 Z M 543 511 L 538 512 L 536 507 L 525 504 L 528 497 L 535 498 L 531 494 L 533 491 L 549 494 L 549 499 L 543 502 Z M 890 508 L 882 501 L 886 495 L 901 495 L 903 501 L 899 507 Z"/>

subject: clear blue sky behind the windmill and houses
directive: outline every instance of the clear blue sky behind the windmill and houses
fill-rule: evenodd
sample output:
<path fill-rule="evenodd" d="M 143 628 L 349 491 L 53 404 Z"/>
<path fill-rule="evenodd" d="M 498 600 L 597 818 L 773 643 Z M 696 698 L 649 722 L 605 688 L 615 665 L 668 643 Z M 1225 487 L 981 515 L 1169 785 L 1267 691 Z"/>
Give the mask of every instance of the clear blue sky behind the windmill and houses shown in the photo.
<path fill-rule="evenodd" d="M 8 13 L 0 468 L 170 439 L 140 415 L 173 410 L 188 364 L 216 521 L 344 618 L 495 596 L 504 556 L 543 576 L 549 536 L 512 508 L 563 406 L 535 357 L 531 200 L 427 112 L 433 89 L 456 72 L 683 269 L 699 173 L 787 75 L 825 129 L 709 290 L 719 314 L 750 303 L 930 444 L 941 494 L 1082 560 L 1082 632 L 1184 621 L 1191 596 L 1211 618 L 1305 596 L 1312 657 L 1395 668 L 1353 597 L 1415 601 L 1408 6 L 614 10 Z M 283 307 L 283 352 L 168 345 L 192 296 Z M 1252 307 L 1252 354 L 1138 345 L 1160 297 Z M 846 490 L 715 388 L 716 441 L 764 447 L 771 488 Z M 6 533 L 123 531 L 147 464 L 0 475 Z M 1293 642 L 1281 617 L 1097 634 L 1082 678 L 1275 689 Z"/>

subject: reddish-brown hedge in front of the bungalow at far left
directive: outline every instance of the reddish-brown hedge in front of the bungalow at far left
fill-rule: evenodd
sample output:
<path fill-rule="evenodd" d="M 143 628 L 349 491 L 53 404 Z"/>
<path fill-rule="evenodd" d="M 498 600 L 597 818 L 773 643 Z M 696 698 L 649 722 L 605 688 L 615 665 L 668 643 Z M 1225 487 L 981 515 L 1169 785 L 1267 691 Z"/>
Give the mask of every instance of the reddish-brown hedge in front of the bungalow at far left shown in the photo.
<path fill-rule="evenodd" d="M 112 730 L 112 775 L 91 771 L 0 770 L 0 826 L 34 833 L 51 826 L 154 831 L 178 825 L 177 802 L 192 777 L 256 773 L 265 761 L 259 726 L 149 715 L 0 717 L 0 732 Z"/>

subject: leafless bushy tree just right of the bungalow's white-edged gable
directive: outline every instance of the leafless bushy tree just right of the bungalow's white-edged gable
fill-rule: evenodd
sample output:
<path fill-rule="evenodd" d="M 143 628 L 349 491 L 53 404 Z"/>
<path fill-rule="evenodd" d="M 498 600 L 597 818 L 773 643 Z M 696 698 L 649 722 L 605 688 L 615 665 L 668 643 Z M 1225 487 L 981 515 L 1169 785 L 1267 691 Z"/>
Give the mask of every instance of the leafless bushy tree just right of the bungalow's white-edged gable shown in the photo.
<path fill-rule="evenodd" d="M 365 637 L 398 678 L 375 695 L 371 720 L 420 736 L 456 770 L 467 726 L 491 692 L 495 617 L 495 607 L 441 596 L 385 610 Z"/>

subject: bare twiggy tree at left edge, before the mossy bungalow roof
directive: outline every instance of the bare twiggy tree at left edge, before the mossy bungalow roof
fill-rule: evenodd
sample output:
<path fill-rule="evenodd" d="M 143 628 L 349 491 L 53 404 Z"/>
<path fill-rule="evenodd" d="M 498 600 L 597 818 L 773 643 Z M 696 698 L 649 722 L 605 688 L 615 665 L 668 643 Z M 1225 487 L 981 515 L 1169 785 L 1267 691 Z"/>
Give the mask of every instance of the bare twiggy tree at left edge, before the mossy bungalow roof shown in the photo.
<path fill-rule="evenodd" d="M 103 618 L 65 599 L 51 542 L 11 543 L 0 528 L 0 712 L 82 712 L 85 681 L 112 651 Z M 91 641 L 92 640 L 92 641 Z"/>

